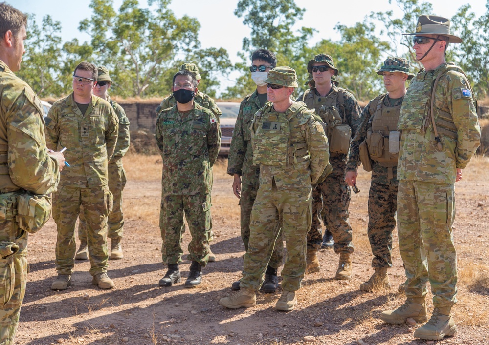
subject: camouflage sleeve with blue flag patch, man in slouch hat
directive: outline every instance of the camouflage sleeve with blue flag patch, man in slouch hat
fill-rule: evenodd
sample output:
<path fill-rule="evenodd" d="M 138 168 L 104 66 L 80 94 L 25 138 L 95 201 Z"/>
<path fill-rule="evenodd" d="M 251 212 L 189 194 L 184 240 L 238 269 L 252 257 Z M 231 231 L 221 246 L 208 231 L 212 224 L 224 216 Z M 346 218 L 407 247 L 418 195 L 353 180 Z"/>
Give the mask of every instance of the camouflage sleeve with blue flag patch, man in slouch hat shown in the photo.
<path fill-rule="evenodd" d="M 481 128 L 468 81 L 459 72 L 448 72 L 443 79 L 448 109 L 457 127 L 456 167 L 464 169 L 480 145 Z"/>

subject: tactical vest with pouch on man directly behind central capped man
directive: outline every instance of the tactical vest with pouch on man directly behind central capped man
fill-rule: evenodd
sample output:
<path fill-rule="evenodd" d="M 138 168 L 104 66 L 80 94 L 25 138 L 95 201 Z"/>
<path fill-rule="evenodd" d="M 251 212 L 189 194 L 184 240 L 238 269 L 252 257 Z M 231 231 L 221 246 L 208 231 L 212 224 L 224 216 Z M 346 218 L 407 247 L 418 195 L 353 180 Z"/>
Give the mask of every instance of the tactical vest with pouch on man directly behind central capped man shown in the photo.
<path fill-rule="evenodd" d="M 338 88 L 338 92 L 330 92 L 325 97 L 317 96 L 314 90 L 307 90 L 303 100 L 309 109 L 315 109 L 316 114 L 326 124 L 325 132 L 330 145 L 330 153 L 333 155 L 347 154 L 350 150 L 352 128 L 346 123 L 343 89 Z M 336 108 L 338 102 L 340 109 Z"/>

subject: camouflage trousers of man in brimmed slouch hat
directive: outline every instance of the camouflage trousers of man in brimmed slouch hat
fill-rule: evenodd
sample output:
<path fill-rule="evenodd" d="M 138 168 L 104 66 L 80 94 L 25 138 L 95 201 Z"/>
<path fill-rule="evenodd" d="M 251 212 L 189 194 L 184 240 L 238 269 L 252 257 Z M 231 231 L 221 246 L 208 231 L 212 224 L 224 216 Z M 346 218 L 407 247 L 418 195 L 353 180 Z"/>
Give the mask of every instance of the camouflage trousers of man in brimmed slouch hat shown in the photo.
<path fill-rule="evenodd" d="M 457 302 L 457 255 L 453 244 L 454 185 L 399 181 L 399 250 L 406 269 L 407 297 L 426 295 L 435 307 Z"/>

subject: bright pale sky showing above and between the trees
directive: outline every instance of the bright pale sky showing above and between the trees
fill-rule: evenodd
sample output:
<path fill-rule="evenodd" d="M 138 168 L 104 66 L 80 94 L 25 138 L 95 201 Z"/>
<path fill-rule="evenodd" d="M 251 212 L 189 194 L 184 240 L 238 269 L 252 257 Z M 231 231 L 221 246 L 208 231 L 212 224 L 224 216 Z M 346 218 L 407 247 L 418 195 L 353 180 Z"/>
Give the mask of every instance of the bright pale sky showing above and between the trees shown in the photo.
<path fill-rule="evenodd" d="M 79 22 L 91 15 L 91 9 L 88 6 L 89 0 L 7 0 L 7 2 L 23 12 L 34 13 L 38 23 L 46 14 L 50 14 L 54 20 L 61 22 L 63 41 L 70 41 L 75 37 L 82 42 L 89 41 L 87 34 L 78 31 Z M 114 8 L 118 9 L 123 1 L 114 0 L 113 2 Z M 147 6 L 146 0 L 139 0 L 139 2 L 143 7 Z M 447 18 L 451 18 L 466 3 L 466 1 L 459 0 L 431 0 L 429 2 L 433 4 L 433 14 Z M 486 12 L 485 0 L 470 0 L 469 2 L 477 18 Z M 237 18 L 234 15 L 237 3 L 238 0 L 173 0 L 170 8 L 177 17 L 186 14 L 199 20 L 201 25 L 199 39 L 202 48 L 223 47 L 227 50 L 231 61 L 238 62 L 240 59 L 237 53 L 242 48 L 243 38 L 249 36 L 250 29 L 243 24 L 243 18 Z M 306 26 L 313 27 L 318 31 L 314 35 L 311 45 L 323 38 L 338 40 L 340 37 L 334 30 L 337 23 L 352 26 L 356 22 L 362 21 L 372 11 L 393 9 L 396 18 L 401 16 L 396 5 L 389 4 L 388 0 L 295 0 L 295 3 L 306 9 L 303 20 L 297 23 L 297 28 Z M 347 5 L 346 8 L 345 4 Z M 236 74 L 222 76 L 220 78 L 222 89 L 231 85 L 233 78 L 236 78 Z"/>

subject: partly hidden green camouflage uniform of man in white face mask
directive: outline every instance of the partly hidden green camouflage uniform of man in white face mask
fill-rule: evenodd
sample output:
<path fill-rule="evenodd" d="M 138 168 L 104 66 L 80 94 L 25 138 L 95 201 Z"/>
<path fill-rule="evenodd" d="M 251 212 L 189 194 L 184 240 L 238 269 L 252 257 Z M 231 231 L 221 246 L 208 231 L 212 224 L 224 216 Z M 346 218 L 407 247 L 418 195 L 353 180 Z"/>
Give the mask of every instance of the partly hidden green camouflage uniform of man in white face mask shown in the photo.
<path fill-rule="evenodd" d="M 251 209 L 260 186 L 260 166 L 253 164 L 252 134 L 249 125 L 260 108 L 256 90 L 251 95 L 246 96 L 241 102 L 227 162 L 227 173 L 231 176 L 234 176 L 234 174 L 241 176 L 241 198 L 239 204 L 241 207 L 241 238 L 245 251 L 248 251 Z M 283 251 L 282 236 L 278 236 L 268 263 L 269 266 L 278 268 L 282 264 Z"/>

